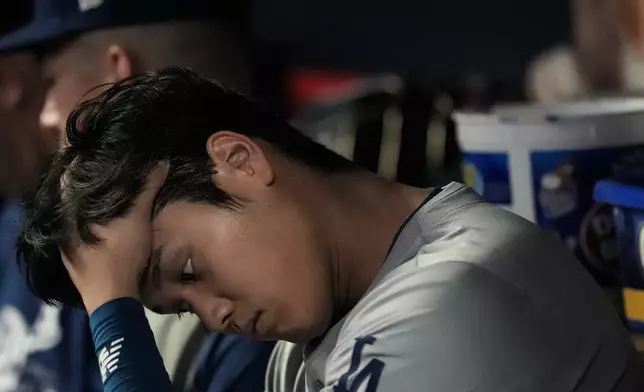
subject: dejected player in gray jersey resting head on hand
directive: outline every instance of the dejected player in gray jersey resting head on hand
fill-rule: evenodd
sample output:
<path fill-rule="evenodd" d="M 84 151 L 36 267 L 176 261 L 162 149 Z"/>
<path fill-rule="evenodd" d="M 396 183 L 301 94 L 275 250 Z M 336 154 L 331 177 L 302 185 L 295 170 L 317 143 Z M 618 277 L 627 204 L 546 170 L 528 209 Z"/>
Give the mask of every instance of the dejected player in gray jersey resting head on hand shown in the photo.
<path fill-rule="evenodd" d="M 184 69 L 67 126 L 19 251 L 37 295 L 90 314 L 108 392 L 170 388 L 143 306 L 301 344 L 309 391 L 644 390 L 564 245 L 461 184 L 383 180 Z"/>

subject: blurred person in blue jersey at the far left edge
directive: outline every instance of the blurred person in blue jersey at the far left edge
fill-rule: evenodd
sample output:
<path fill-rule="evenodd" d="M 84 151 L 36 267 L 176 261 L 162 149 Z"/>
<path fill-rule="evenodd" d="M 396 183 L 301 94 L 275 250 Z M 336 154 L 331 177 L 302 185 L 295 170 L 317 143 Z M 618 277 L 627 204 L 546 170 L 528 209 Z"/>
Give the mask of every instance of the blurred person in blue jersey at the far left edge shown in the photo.
<path fill-rule="evenodd" d="M 13 5 L 11 12 L 28 12 L 16 6 L 21 5 Z M 15 22 L 23 16 L 11 12 L 0 10 L 0 18 Z M 87 316 L 71 307 L 45 305 L 29 290 L 16 263 L 17 200 L 37 183 L 56 149 L 55 135 L 38 126 L 42 102 L 33 53 L 0 53 L 0 392 L 101 391 Z"/>

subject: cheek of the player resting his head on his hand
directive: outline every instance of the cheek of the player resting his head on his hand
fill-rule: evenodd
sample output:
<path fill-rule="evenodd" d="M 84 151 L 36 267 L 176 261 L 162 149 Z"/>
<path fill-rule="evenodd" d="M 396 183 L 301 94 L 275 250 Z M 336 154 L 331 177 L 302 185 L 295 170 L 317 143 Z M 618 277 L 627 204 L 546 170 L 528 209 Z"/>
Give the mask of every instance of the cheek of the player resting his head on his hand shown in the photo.
<path fill-rule="evenodd" d="M 221 296 L 250 311 L 266 311 L 276 333 L 324 330 L 332 298 L 314 241 L 302 231 L 275 227 L 229 228 L 218 238 L 202 260 L 208 260 L 206 280 Z"/>

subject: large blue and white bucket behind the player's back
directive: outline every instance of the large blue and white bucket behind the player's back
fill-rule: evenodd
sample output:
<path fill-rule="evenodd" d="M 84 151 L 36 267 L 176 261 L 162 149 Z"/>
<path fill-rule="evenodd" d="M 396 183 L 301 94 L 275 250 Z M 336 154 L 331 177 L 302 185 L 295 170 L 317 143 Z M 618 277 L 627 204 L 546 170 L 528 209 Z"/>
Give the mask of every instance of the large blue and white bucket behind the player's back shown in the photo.
<path fill-rule="evenodd" d="M 600 284 L 614 284 L 612 209 L 595 203 L 593 187 L 644 147 L 644 98 L 503 107 L 455 120 L 465 182 L 557 234 Z"/>

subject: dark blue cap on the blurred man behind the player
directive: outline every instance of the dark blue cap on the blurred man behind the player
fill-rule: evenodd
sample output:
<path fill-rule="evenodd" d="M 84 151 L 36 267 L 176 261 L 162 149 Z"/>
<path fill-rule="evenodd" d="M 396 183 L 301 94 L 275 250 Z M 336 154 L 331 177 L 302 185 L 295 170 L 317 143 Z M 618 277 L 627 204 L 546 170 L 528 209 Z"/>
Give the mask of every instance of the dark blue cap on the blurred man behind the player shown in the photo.
<path fill-rule="evenodd" d="M 31 20 L 0 36 L 0 52 L 41 45 L 83 31 L 117 26 L 193 19 L 241 22 L 248 5 L 241 0 L 30 1 Z"/>

